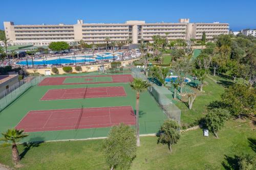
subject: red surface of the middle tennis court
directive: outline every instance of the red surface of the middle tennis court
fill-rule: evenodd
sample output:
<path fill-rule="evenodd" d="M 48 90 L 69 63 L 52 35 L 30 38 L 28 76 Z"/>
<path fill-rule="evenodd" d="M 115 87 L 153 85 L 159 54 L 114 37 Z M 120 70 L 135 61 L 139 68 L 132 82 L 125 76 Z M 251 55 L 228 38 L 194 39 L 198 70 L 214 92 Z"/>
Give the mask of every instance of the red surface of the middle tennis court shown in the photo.
<path fill-rule="evenodd" d="M 82 98 L 109 98 L 126 96 L 122 86 L 116 87 L 92 87 L 92 88 L 70 88 L 50 89 L 41 98 L 42 101 Z"/>

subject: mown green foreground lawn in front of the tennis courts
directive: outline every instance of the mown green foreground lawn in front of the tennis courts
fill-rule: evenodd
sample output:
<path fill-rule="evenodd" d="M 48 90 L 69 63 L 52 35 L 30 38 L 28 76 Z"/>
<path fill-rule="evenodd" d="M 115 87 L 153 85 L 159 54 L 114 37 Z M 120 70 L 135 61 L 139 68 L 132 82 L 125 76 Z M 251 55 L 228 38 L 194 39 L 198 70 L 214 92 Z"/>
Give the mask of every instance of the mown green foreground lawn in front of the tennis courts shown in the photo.
<path fill-rule="evenodd" d="M 173 145 L 157 144 L 156 137 L 141 137 L 141 147 L 131 169 L 225 169 L 234 156 L 255 154 L 255 132 L 248 120 L 229 120 L 219 139 L 202 130 L 188 131 Z M 18 145 L 23 167 L 19 169 L 110 169 L 101 152 L 102 140 L 44 142 Z M 13 167 L 11 146 L 0 145 L 0 162 Z"/>

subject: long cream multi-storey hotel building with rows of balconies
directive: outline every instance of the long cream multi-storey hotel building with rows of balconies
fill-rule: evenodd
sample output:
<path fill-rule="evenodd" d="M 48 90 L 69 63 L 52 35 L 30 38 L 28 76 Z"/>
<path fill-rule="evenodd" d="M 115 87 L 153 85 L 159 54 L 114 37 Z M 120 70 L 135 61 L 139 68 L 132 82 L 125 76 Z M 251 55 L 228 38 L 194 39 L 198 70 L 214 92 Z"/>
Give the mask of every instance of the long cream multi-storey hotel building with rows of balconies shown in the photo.
<path fill-rule="evenodd" d="M 14 25 L 14 22 L 4 22 L 7 38 L 11 45 L 49 45 L 53 41 L 84 40 L 91 44 L 110 41 L 126 42 L 131 39 L 136 44 L 141 39 L 152 42 L 154 35 L 167 39 L 201 39 L 203 32 L 208 41 L 220 34 L 228 34 L 228 23 L 190 23 L 189 19 L 180 19 L 178 23 L 146 23 L 145 21 L 130 20 L 125 23 L 83 23 L 77 20 L 75 25 Z M 0 42 L 3 46 L 3 43 Z"/>

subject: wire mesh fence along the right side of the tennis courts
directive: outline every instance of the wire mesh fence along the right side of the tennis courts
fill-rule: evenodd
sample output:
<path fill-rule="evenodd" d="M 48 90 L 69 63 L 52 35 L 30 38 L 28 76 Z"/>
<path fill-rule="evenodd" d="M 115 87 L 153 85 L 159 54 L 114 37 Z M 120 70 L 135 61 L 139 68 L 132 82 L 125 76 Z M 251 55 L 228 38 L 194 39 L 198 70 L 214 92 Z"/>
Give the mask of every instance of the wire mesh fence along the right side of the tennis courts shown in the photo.
<path fill-rule="evenodd" d="M 132 68 L 132 76 L 134 78 L 140 78 L 142 80 L 148 81 L 146 76 L 143 74 L 143 71 L 137 67 Z M 165 115 L 168 118 L 176 120 L 180 124 L 181 110 L 172 102 L 172 100 L 166 97 L 166 94 L 170 94 L 171 92 L 167 88 L 158 86 L 156 84 L 148 87 L 147 90 L 157 101 Z"/>

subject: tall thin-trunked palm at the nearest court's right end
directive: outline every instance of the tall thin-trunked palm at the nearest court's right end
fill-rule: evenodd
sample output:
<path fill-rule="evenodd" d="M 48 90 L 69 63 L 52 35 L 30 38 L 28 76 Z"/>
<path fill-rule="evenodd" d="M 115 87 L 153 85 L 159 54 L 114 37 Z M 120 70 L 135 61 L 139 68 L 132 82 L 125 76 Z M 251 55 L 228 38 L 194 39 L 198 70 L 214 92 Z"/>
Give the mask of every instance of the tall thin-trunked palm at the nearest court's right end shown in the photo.
<path fill-rule="evenodd" d="M 140 146 L 140 131 L 139 131 L 139 100 L 140 93 L 145 91 L 147 87 L 151 86 L 147 81 L 142 79 L 134 78 L 133 82 L 130 84 L 132 89 L 136 91 L 136 138 L 137 147 Z"/>

